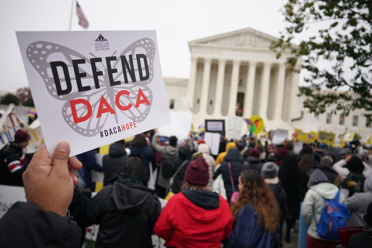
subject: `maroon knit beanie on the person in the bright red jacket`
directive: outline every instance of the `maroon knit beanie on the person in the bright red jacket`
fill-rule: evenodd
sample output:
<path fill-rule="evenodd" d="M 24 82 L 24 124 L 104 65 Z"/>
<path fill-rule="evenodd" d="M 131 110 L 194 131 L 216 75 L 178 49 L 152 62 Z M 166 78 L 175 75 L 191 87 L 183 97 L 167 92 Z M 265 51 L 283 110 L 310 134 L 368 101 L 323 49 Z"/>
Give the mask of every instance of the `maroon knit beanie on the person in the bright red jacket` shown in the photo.
<path fill-rule="evenodd" d="M 185 179 L 188 183 L 198 186 L 205 186 L 209 183 L 209 167 L 202 157 L 193 160 L 185 172 Z"/>

